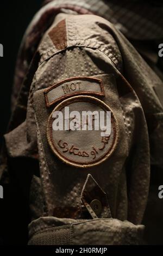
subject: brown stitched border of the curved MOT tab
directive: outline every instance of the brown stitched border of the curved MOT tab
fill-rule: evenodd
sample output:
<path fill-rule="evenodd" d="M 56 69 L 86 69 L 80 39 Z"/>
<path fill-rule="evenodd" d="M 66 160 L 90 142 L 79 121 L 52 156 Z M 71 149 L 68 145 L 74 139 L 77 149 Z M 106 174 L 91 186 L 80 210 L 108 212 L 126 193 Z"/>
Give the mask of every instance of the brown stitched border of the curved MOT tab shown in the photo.
<path fill-rule="evenodd" d="M 81 90 L 80 92 L 73 92 L 71 94 L 66 94 L 63 96 L 59 96 L 57 99 L 49 102 L 48 100 L 48 93 L 51 92 L 52 90 L 54 90 L 55 88 L 61 86 L 61 84 L 64 84 L 66 82 L 71 82 L 71 81 L 77 81 L 77 80 L 83 80 L 83 81 L 88 81 L 88 82 L 95 82 L 99 84 L 99 88 L 101 92 L 96 92 L 95 90 L 93 91 L 89 91 L 89 90 Z M 54 84 L 53 86 L 45 89 L 44 91 L 44 95 L 45 95 L 45 101 L 46 101 L 46 106 L 47 107 L 51 107 L 52 105 L 54 105 L 54 103 L 57 103 L 61 100 L 65 100 L 70 96 L 76 96 L 76 95 L 95 95 L 95 96 L 105 96 L 104 93 L 104 87 L 103 87 L 103 82 L 101 79 L 99 78 L 94 78 L 94 77 L 87 77 L 87 76 L 78 76 L 78 77 L 71 77 L 71 78 L 67 78 L 65 80 L 60 81 L 59 83 Z"/>

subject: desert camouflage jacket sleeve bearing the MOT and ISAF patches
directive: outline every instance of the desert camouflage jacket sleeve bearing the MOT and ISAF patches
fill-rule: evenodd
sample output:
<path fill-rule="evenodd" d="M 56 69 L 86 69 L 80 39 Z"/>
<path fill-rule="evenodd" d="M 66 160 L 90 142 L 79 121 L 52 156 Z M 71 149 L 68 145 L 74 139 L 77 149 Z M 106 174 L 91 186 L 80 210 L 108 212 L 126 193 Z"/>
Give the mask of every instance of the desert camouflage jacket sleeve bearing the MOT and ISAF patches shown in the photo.
<path fill-rule="evenodd" d="M 8 159 L 21 182 L 24 161 L 30 162 L 25 164 L 32 175 L 30 245 L 142 242 L 149 136 L 118 38 L 101 17 L 59 14 L 37 49 L 37 66 L 25 80 L 30 91 L 24 119 L 5 135 Z M 24 88 L 15 117 L 27 96 Z M 53 131 L 54 111 L 65 106 L 79 112 L 109 109 L 110 136 Z"/>

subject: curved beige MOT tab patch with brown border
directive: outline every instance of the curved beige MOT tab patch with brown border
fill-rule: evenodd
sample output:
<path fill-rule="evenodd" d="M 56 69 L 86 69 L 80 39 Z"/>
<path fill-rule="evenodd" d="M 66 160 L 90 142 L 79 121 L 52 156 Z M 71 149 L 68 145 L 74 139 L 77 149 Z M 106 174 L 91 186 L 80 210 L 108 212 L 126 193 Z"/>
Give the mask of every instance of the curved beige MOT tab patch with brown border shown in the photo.
<path fill-rule="evenodd" d="M 105 96 L 101 79 L 87 76 L 71 77 L 45 89 L 46 106 L 75 95 Z"/>

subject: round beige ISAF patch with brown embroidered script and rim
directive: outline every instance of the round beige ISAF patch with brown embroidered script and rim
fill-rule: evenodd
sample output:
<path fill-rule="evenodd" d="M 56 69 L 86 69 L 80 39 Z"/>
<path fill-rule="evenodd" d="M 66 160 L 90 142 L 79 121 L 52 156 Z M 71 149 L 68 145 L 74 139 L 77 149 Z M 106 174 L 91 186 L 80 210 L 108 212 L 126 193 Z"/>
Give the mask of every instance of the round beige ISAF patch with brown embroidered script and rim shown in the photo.
<path fill-rule="evenodd" d="M 92 167 L 114 151 L 118 124 L 103 101 L 74 96 L 54 108 L 47 123 L 47 139 L 60 160 L 80 168 Z"/>

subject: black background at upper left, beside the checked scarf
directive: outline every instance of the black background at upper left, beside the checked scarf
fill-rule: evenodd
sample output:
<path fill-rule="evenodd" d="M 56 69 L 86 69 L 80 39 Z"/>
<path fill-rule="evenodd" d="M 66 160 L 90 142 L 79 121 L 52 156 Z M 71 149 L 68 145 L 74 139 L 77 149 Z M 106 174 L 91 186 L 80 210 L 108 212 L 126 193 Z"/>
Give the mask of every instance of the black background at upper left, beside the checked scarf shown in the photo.
<path fill-rule="evenodd" d="M 0 57 L 0 148 L 10 118 L 10 97 L 18 48 L 22 36 L 42 0 L 1 1 L 0 44 L 4 57 Z"/>

